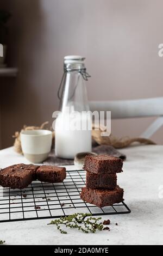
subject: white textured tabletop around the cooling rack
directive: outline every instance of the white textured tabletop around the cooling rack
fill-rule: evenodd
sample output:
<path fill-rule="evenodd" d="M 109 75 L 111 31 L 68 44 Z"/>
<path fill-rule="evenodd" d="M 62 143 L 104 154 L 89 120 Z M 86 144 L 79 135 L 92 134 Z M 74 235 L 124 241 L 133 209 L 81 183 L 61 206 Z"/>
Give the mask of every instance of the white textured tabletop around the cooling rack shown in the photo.
<path fill-rule="evenodd" d="M 7 245 L 160 245 L 163 244 L 163 146 L 147 145 L 121 150 L 127 155 L 118 184 L 124 188 L 131 214 L 110 215 L 110 231 L 60 234 L 50 220 L 0 224 L 0 240 Z M 0 151 L 0 167 L 28 163 L 12 148 Z M 74 169 L 69 166 L 67 169 Z M 108 216 L 104 216 L 106 220 Z M 118 223 L 118 225 L 115 225 Z"/>

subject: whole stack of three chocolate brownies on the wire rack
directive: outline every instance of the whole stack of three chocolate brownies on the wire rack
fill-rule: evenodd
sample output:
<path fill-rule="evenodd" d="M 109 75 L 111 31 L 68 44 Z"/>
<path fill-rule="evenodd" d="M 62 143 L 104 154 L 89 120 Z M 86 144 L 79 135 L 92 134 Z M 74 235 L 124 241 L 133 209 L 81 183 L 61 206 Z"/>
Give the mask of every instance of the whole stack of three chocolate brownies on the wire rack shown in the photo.
<path fill-rule="evenodd" d="M 117 185 L 117 174 L 122 172 L 123 161 L 110 155 L 85 157 L 86 187 L 80 198 L 102 208 L 123 201 L 123 189 Z"/>

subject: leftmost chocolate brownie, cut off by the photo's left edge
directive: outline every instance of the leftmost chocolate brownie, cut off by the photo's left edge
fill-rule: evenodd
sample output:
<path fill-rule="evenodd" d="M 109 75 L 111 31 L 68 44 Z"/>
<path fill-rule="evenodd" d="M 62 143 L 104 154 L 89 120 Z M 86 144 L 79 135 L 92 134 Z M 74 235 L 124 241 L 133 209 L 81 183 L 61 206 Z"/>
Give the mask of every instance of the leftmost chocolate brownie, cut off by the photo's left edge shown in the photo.
<path fill-rule="evenodd" d="M 10 188 L 25 188 L 36 178 L 39 166 L 33 164 L 14 164 L 0 171 L 0 185 Z"/>

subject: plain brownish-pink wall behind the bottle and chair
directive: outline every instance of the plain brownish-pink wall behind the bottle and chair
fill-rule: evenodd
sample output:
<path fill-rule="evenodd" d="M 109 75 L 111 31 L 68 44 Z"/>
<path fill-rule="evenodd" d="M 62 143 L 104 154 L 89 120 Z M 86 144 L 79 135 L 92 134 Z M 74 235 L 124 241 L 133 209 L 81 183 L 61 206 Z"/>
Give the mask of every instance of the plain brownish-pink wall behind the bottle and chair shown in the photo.
<path fill-rule="evenodd" d="M 66 54 L 86 56 L 90 100 L 162 96 L 161 0 L 1 0 L 2 6 L 12 13 L 8 63 L 19 69 L 16 80 L 0 80 L 2 148 L 23 124 L 52 123 Z M 136 136 L 151 120 L 116 120 L 112 133 Z M 158 143 L 162 129 L 153 137 Z"/>

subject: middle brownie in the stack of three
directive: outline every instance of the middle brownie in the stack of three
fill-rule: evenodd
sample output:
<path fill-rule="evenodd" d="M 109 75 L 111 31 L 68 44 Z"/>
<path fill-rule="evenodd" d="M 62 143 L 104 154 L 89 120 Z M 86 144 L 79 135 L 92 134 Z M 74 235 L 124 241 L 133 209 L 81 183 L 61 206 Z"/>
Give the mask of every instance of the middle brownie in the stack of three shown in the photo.
<path fill-rule="evenodd" d="M 106 188 L 114 190 L 117 186 L 116 174 L 96 174 L 86 172 L 86 187 L 89 188 Z"/>

